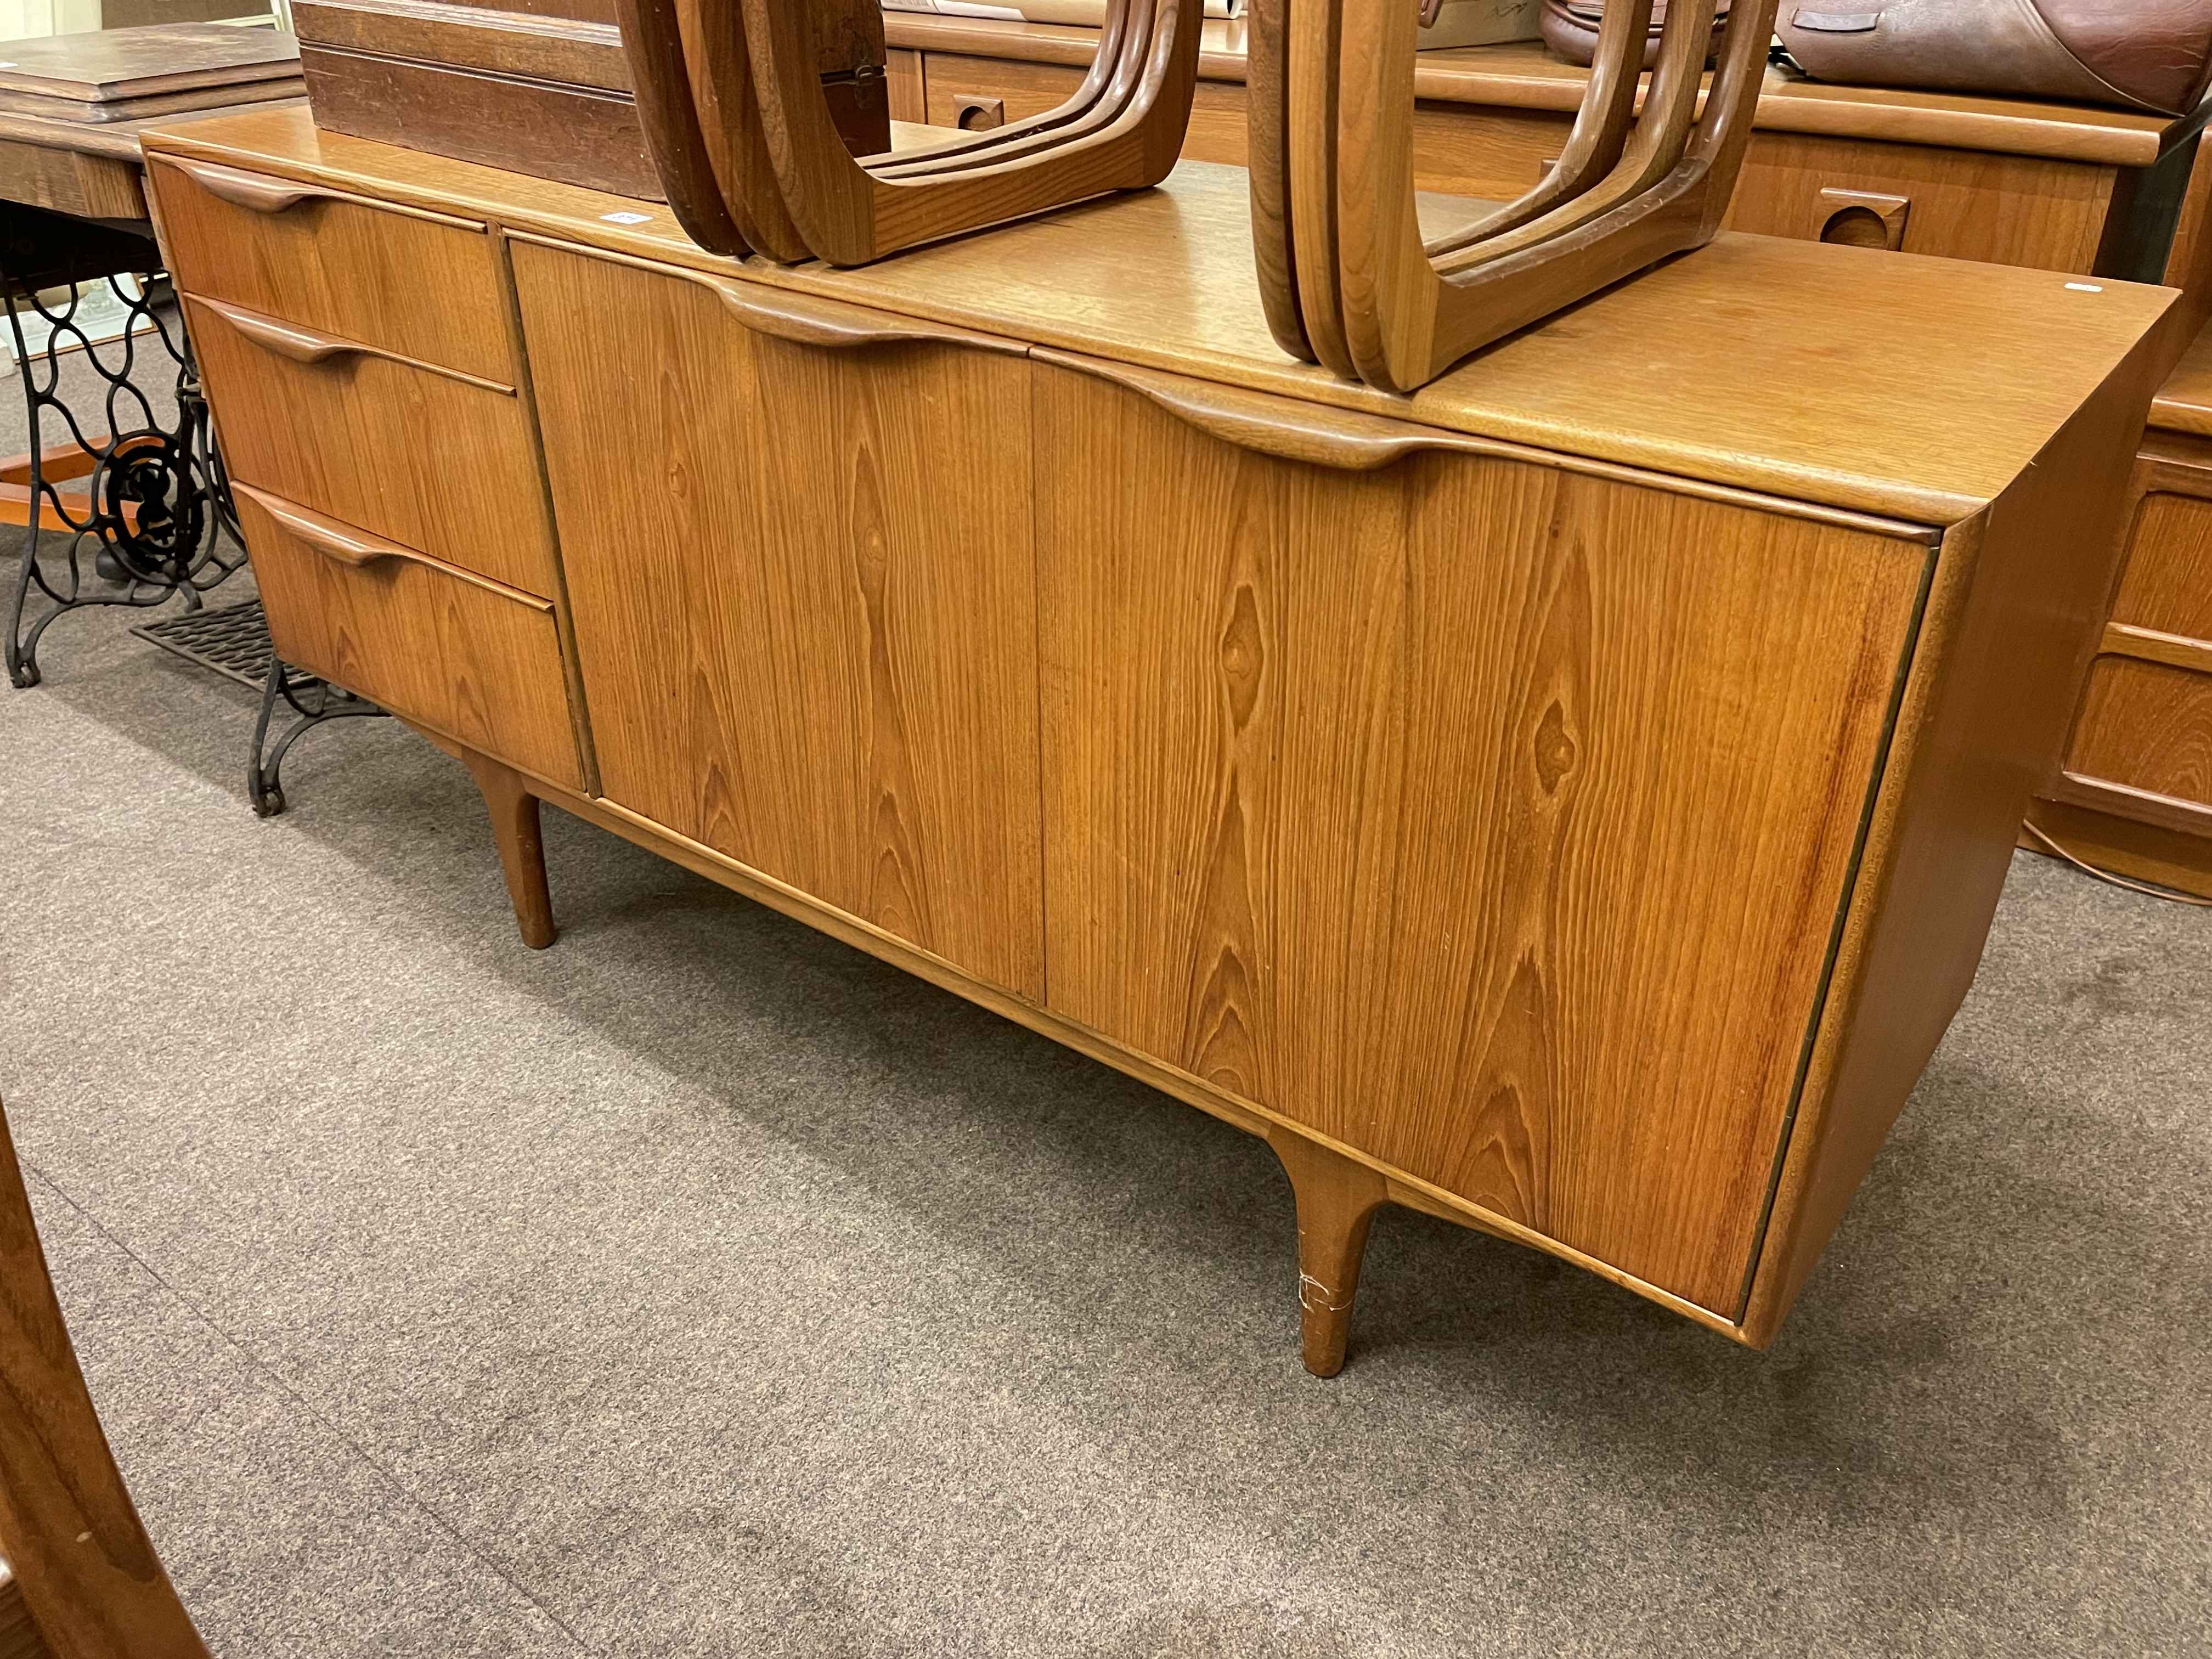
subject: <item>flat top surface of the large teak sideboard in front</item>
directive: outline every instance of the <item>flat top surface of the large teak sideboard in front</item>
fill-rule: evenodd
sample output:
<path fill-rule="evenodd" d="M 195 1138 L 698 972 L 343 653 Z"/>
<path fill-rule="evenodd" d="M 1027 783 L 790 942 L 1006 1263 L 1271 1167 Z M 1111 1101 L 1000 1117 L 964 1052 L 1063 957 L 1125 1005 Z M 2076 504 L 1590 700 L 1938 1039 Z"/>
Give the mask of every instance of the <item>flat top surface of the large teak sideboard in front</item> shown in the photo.
<path fill-rule="evenodd" d="M 1183 161 L 1157 190 L 830 270 L 719 259 L 664 204 L 325 133 L 296 106 L 177 124 L 150 133 L 146 150 L 1924 526 L 1993 502 L 2143 334 L 2172 323 L 2177 299 L 2062 272 L 1723 234 L 1400 398 L 1274 345 L 1243 168 Z"/>

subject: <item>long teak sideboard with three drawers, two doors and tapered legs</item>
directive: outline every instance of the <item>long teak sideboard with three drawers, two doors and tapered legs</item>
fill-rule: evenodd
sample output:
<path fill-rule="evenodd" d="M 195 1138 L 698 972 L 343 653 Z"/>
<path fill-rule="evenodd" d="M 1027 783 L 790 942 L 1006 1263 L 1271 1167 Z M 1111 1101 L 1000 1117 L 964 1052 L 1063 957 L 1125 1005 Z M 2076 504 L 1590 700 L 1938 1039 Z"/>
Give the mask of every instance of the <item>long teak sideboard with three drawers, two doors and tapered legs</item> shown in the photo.
<path fill-rule="evenodd" d="M 1391 398 L 1274 349 L 1225 166 L 832 272 L 299 113 L 148 155 L 276 641 L 469 763 L 524 938 L 551 801 L 1263 1135 L 1321 1374 L 1380 1203 L 1774 1336 L 2183 323 L 1725 234 Z"/>

